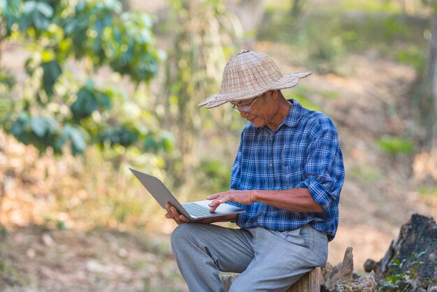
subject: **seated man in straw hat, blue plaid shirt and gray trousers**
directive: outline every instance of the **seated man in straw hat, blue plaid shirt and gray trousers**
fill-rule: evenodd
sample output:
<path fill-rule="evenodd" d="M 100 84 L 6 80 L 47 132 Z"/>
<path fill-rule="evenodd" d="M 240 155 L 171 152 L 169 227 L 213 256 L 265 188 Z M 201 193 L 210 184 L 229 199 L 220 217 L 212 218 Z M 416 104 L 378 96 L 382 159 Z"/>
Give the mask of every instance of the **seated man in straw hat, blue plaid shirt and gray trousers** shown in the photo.
<path fill-rule="evenodd" d="M 165 217 L 179 224 L 172 251 L 190 291 L 223 291 L 220 271 L 241 273 L 230 291 L 286 291 L 325 265 L 345 174 L 339 138 L 329 117 L 281 93 L 310 74 L 282 75 L 267 54 L 244 50 L 225 66 L 221 91 L 200 103 L 230 102 L 249 121 L 230 191 L 207 197 L 211 211 L 230 203 L 246 212 L 194 223 L 166 206 Z"/>

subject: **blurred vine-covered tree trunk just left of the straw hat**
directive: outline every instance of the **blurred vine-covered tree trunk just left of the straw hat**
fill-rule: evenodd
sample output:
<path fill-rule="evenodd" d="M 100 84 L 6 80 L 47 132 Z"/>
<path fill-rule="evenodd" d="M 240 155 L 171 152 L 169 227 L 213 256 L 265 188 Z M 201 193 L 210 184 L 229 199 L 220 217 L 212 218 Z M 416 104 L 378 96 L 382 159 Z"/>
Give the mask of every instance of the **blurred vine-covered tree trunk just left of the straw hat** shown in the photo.
<path fill-rule="evenodd" d="M 172 46 L 168 50 L 163 88 L 164 124 L 175 133 L 175 152 L 166 163 L 173 189 L 182 200 L 198 183 L 200 164 L 198 136 L 202 120 L 198 103 L 218 88 L 218 75 L 225 66 L 223 43 L 232 35 L 221 29 L 220 15 L 209 0 L 173 1 Z"/>

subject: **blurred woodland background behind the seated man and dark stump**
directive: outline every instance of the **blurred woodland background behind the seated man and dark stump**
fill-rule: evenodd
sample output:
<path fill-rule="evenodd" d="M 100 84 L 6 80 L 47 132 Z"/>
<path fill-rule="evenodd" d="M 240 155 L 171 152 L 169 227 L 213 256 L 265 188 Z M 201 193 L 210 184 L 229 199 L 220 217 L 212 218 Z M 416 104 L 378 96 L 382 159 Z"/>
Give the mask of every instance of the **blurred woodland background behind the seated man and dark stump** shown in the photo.
<path fill-rule="evenodd" d="M 218 92 L 243 48 L 332 117 L 346 163 L 329 263 L 379 261 L 437 216 L 437 8 L 421 0 L 0 0 L 0 290 L 187 291 L 175 228 L 128 168 L 184 200 L 229 188 L 245 120 Z M 232 224 L 224 224 L 232 226 Z"/>

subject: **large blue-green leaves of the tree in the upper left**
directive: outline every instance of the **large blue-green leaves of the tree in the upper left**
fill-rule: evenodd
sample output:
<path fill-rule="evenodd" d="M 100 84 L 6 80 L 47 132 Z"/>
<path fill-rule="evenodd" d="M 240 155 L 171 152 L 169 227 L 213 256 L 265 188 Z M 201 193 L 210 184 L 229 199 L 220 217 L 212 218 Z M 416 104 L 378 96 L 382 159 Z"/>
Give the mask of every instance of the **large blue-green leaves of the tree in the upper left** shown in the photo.
<path fill-rule="evenodd" d="M 96 143 L 148 150 L 153 139 L 154 151 L 171 149 L 170 138 L 145 129 L 153 125 L 146 122 L 150 114 L 134 120 L 123 112 L 128 101 L 123 92 L 91 79 L 102 66 L 127 75 L 137 87 L 156 75 L 158 50 L 149 15 L 122 13 L 117 0 L 2 0 L 0 13 L 5 39 L 22 41 L 32 52 L 25 64 L 26 90 L 0 73 L 6 100 L 0 103 L 0 125 L 6 133 L 41 153 L 50 147 L 60 154 L 68 146 L 79 154 Z M 75 79 L 73 60 L 84 61 L 85 82 Z"/>

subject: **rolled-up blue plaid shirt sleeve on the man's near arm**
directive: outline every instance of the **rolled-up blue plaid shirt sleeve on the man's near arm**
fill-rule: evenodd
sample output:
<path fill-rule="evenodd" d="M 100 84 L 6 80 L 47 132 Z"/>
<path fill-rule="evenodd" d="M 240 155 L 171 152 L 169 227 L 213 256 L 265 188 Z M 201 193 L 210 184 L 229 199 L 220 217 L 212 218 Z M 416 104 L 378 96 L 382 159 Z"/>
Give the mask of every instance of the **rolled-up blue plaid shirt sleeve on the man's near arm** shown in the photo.
<path fill-rule="evenodd" d="M 304 180 L 299 187 L 309 189 L 313 200 L 329 212 L 333 203 L 338 203 L 343 187 L 343 156 L 332 121 L 329 121 L 329 127 L 318 127 L 313 134 L 315 138 L 308 147 L 309 155 L 304 165 Z"/>

